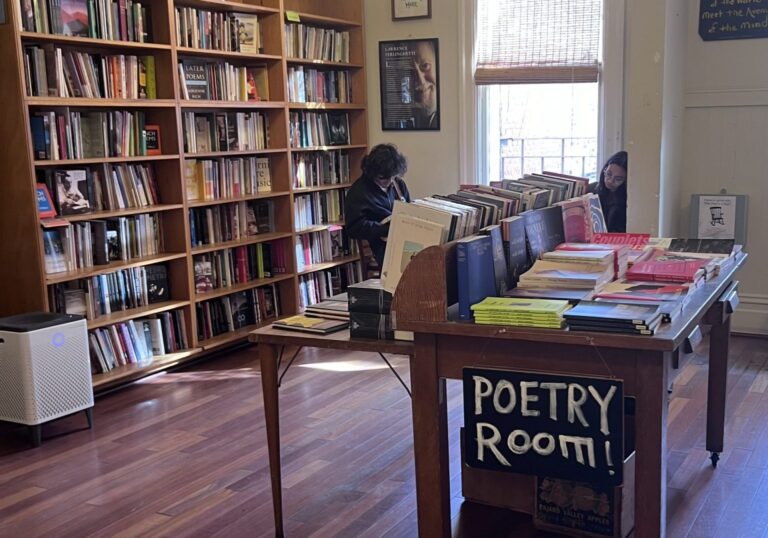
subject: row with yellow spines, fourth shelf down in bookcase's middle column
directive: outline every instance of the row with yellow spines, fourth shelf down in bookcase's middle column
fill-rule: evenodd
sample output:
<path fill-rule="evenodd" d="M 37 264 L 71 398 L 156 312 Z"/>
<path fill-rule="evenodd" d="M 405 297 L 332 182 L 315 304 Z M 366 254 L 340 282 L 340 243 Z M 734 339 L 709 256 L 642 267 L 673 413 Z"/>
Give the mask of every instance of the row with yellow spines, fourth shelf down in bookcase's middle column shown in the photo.
<path fill-rule="evenodd" d="M 269 157 L 187 159 L 187 200 L 239 198 L 272 191 Z"/>

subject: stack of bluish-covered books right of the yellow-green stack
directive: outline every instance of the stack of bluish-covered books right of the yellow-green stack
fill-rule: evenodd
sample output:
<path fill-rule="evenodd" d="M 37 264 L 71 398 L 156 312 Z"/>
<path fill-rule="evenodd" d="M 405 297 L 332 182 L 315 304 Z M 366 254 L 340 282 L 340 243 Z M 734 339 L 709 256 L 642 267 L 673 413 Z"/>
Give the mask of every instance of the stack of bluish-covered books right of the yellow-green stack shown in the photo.
<path fill-rule="evenodd" d="M 572 331 L 652 335 L 661 324 L 658 305 L 583 301 L 563 314 Z"/>

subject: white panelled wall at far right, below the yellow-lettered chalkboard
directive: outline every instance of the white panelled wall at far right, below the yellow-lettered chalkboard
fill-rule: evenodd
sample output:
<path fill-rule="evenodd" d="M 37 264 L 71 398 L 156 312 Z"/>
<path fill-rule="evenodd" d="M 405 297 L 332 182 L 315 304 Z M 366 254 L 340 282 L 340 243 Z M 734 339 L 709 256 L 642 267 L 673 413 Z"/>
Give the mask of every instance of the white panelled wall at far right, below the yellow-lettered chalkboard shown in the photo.
<path fill-rule="evenodd" d="M 734 329 L 768 334 L 768 39 L 703 41 L 688 0 L 681 231 L 692 193 L 749 195 L 742 303 Z"/>

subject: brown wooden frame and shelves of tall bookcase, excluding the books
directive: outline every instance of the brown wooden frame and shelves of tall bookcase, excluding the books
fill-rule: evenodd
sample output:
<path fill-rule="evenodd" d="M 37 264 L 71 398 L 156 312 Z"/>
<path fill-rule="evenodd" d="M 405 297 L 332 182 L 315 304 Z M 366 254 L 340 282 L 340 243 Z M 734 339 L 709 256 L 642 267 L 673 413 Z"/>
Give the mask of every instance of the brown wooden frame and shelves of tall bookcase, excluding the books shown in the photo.
<path fill-rule="evenodd" d="M 43 3 L 46 0 L 36 0 Z M 248 331 L 259 325 L 251 324 L 233 332 L 210 338 L 198 336 L 197 305 L 236 292 L 275 285 L 279 292 L 281 314 L 300 310 L 300 280 L 307 275 L 344 267 L 359 262 L 357 254 L 337 257 L 331 261 L 310 264 L 297 270 L 296 244 L 302 235 L 327 228 L 335 223 L 320 222 L 305 229 L 297 229 L 294 204 L 300 197 L 315 193 L 340 191 L 354 180 L 367 150 L 366 77 L 364 66 L 363 2 L 362 0 L 251 0 L 246 2 L 222 0 L 144 0 L 151 12 L 152 42 L 118 41 L 93 37 L 73 37 L 24 30 L 22 15 L 25 0 L 6 0 L 7 21 L 0 24 L 0 49 L 5 52 L 0 65 L 0 232 L 5 245 L 0 263 L 0 315 L 49 310 L 49 288 L 80 279 L 114 273 L 115 271 L 162 264 L 167 268 L 169 295 L 167 300 L 127 310 L 118 310 L 89 320 L 89 330 L 120 324 L 129 320 L 179 311 L 184 314 L 188 348 L 155 357 L 149 365 L 128 364 L 107 373 L 94 375 L 96 391 L 126 383 L 145 375 L 167 369 L 182 362 L 199 358 L 201 354 L 221 349 L 222 346 L 242 340 Z M 60 5 L 51 2 L 50 5 Z M 88 3 L 94 5 L 93 2 Z M 111 3 L 108 2 L 111 5 Z M 115 2 L 116 6 L 124 5 Z M 32 1 L 26 3 L 33 5 Z M 37 4 L 34 4 L 37 5 Z M 216 13 L 244 13 L 258 17 L 261 26 L 263 52 L 251 54 L 179 46 L 176 38 L 176 9 L 196 8 Z M 89 10 L 91 8 L 89 7 Z M 119 9 L 119 7 L 118 7 Z M 130 9 L 130 8 L 129 8 Z M 308 60 L 290 57 L 286 46 L 286 24 L 300 22 L 313 28 L 334 29 L 349 34 L 349 62 Z M 39 45 L 101 55 L 149 55 L 154 57 L 156 71 L 156 98 L 106 99 L 85 97 L 29 96 L 26 87 L 25 47 Z M 183 71 L 178 65 L 184 61 L 204 61 L 213 64 L 227 62 L 234 66 L 264 65 L 268 73 L 268 101 L 217 101 L 184 99 L 181 90 Z M 346 71 L 351 86 L 351 102 L 344 104 L 323 102 L 291 102 L 288 92 L 288 72 L 303 67 L 328 73 Z M 31 120 L 41 112 L 72 112 L 85 114 L 93 111 L 127 111 L 144 114 L 146 124 L 160 128 L 162 153 L 130 157 L 96 157 L 68 160 L 41 160 L 35 152 Z M 184 116 L 189 112 L 247 112 L 263 113 L 269 120 L 269 144 L 265 149 L 250 151 L 185 151 Z M 344 145 L 293 147 L 291 143 L 291 115 L 297 112 L 344 113 L 348 118 L 349 143 Z M 300 144 L 306 146 L 307 144 Z M 341 152 L 348 160 L 350 177 L 335 184 L 297 187 L 294 180 L 294 162 L 302 155 Z M 257 192 L 236 198 L 215 200 L 188 199 L 185 181 L 186 162 L 190 159 L 218 161 L 229 157 L 268 157 L 270 163 L 271 192 Z M 73 169 L 89 166 L 148 165 L 154 170 L 159 203 L 131 209 L 105 210 L 62 216 L 75 223 L 132 217 L 160 215 L 163 248 L 158 254 L 113 261 L 67 272 L 46 273 L 44 240 L 37 210 L 36 178 L 40 170 Z M 274 230 L 269 233 L 217 244 L 192 246 L 190 211 L 206 210 L 240 201 L 271 200 L 274 209 Z M 221 252 L 259 243 L 285 242 L 287 259 L 285 272 L 270 278 L 250 280 L 229 287 L 198 293 L 195 286 L 194 261 L 203 254 Z M 177 327 L 178 328 L 178 327 Z"/>

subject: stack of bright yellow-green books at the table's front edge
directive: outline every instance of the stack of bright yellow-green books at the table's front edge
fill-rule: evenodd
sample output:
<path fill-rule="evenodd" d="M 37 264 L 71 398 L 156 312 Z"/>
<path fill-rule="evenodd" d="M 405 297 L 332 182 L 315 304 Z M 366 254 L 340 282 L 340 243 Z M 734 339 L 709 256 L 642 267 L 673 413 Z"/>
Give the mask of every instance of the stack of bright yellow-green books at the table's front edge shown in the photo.
<path fill-rule="evenodd" d="M 563 313 L 570 307 L 568 301 L 488 297 L 472 305 L 472 311 L 475 323 L 481 325 L 562 329 Z"/>

